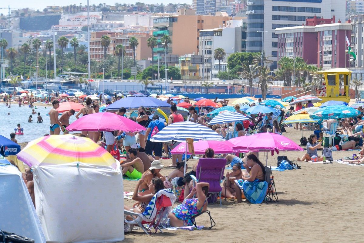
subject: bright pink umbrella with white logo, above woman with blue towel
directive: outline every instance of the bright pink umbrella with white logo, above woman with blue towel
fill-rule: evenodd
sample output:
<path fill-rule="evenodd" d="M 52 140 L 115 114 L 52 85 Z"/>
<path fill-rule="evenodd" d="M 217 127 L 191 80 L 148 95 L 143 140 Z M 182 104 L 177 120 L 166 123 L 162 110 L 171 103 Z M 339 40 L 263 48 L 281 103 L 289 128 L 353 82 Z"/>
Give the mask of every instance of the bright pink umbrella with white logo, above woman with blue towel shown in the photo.
<path fill-rule="evenodd" d="M 289 138 L 276 133 L 258 133 L 252 136 L 243 136 L 232 138 L 229 140 L 234 146 L 235 152 L 240 150 L 249 150 L 253 152 L 267 152 L 271 151 L 303 151 L 303 149 L 290 140 Z M 268 156 L 267 161 L 268 162 Z"/>

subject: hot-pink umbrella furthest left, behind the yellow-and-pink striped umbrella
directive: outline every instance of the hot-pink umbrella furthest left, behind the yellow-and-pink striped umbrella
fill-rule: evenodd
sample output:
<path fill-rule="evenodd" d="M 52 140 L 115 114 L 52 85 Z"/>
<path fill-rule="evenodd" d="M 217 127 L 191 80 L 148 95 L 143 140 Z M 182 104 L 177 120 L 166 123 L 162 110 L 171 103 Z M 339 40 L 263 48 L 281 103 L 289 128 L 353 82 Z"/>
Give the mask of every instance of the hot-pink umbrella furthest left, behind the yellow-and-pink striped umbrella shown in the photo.
<path fill-rule="evenodd" d="M 92 113 L 81 117 L 80 119 L 67 126 L 70 132 L 75 131 L 113 131 L 120 130 L 123 132 L 139 132 L 146 130 L 143 126 L 139 125 L 126 117 L 116 115 L 111 112 Z"/>

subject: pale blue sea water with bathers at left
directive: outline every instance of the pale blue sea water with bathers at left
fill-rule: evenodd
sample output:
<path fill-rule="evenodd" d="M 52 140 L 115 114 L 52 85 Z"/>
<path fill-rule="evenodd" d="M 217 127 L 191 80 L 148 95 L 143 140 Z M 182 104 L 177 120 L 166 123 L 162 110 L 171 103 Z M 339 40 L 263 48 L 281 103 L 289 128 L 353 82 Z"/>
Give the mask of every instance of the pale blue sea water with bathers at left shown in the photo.
<path fill-rule="evenodd" d="M 37 114 L 32 115 L 32 109 L 28 105 L 19 107 L 17 103 L 11 103 L 11 108 L 0 103 L 0 134 L 10 139 L 10 133 L 14 132 L 16 125 L 20 123 L 20 127 L 24 129 L 23 135 L 16 135 L 18 142 L 30 142 L 36 138 L 49 133 L 50 119 L 47 115 L 51 106 L 37 106 L 35 111 L 40 112 L 43 118 L 42 123 L 37 123 Z M 10 113 L 8 115 L 8 113 Z M 29 115 L 32 115 L 32 122 L 28 122 Z M 70 117 L 70 123 L 76 120 L 75 115 Z M 61 132 L 62 134 L 62 132 Z"/>

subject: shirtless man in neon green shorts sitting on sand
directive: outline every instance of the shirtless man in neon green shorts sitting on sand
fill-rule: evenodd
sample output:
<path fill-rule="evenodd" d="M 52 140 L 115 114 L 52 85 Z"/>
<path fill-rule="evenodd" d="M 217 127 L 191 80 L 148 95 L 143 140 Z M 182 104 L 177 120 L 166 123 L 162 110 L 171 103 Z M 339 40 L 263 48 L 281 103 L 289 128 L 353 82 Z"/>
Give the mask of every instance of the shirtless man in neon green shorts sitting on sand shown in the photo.
<path fill-rule="evenodd" d="M 120 166 L 123 168 L 123 175 L 126 175 L 130 179 L 141 179 L 142 172 L 144 172 L 144 164 L 140 158 L 137 157 L 137 150 L 131 148 L 128 150 L 129 161 L 120 162 Z"/>

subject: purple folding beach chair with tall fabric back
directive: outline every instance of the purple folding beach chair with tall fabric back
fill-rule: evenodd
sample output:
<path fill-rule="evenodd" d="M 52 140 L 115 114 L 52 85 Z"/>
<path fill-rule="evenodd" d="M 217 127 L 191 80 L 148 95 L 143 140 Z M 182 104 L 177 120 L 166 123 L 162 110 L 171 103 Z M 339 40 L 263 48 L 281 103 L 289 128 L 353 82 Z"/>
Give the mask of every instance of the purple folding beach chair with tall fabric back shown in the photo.
<path fill-rule="evenodd" d="M 221 180 L 224 174 L 226 160 L 224 158 L 200 158 L 196 169 L 196 178 L 199 182 L 209 183 L 210 202 L 215 202 L 215 196 L 220 196 L 221 203 Z"/>

